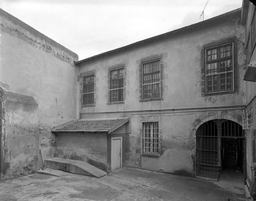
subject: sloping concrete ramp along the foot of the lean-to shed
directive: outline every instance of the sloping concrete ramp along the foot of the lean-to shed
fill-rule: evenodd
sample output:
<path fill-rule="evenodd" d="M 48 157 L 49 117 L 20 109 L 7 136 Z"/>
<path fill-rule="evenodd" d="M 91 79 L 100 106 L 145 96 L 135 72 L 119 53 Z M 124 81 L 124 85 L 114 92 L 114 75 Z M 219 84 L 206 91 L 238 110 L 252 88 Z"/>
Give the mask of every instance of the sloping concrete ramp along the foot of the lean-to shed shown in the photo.
<path fill-rule="evenodd" d="M 103 177 L 107 173 L 98 167 L 92 166 L 84 161 L 71 160 L 65 158 L 49 158 L 44 160 L 44 166 L 52 169 L 59 169 L 75 174 L 87 175 L 91 177 Z"/>

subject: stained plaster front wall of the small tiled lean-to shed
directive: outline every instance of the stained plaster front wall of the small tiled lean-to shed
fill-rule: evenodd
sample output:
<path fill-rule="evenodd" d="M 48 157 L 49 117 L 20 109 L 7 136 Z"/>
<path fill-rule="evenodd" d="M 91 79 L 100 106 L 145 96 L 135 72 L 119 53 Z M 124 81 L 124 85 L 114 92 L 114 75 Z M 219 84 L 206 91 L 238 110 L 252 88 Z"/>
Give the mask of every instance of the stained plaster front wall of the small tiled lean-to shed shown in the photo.
<path fill-rule="evenodd" d="M 107 133 L 56 133 L 54 156 L 85 161 L 107 171 Z"/>

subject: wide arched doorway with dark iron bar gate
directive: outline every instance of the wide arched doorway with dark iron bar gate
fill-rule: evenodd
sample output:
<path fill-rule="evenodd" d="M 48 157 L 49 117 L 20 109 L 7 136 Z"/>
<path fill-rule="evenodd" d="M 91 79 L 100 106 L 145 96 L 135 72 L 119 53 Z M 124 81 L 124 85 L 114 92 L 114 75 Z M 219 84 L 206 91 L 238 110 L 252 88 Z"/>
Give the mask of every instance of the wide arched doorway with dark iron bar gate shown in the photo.
<path fill-rule="evenodd" d="M 222 169 L 245 170 L 246 136 L 242 126 L 226 119 L 210 120 L 196 132 L 196 174 L 219 178 Z M 244 171 L 245 172 L 245 171 Z"/>

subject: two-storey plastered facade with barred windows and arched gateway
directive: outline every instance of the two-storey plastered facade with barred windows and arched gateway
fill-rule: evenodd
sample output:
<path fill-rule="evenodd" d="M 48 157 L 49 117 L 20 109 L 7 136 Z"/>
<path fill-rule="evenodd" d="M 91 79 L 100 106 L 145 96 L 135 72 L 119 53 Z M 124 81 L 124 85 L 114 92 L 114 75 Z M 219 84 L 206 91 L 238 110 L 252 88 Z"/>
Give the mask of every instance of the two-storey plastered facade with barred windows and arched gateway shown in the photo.
<path fill-rule="evenodd" d="M 197 158 L 200 149 L 196 146 L 196 132 L 210 120 L 242 125 L 246 53 L 240 17 L 241 9 L 234 10 L 75 62 L 81 86 L 80 117 L 130 118 L 125 166 L 217 179 L 223 148 L 208 148 Z M 208 51 L 212 55 L 206 56 Z M 221 58 L 223 51 L 230 55 Z M 209 61 L 210 67 L 206 68 L 206 60 L 211 56 L 214 62 Z M 222 67 L 224 79 L 219 77 Z M 94 81 L 93 99 L 92 91 L 86 88 L 90 77 Z M 220 83 L 223 81 L 226 85 Z M 215 157 L 208 154 L 216 151 Z M 215 162 L 200 162 L 199 157 Z M 206 170 L 197 172 L 200 168 Z"/>

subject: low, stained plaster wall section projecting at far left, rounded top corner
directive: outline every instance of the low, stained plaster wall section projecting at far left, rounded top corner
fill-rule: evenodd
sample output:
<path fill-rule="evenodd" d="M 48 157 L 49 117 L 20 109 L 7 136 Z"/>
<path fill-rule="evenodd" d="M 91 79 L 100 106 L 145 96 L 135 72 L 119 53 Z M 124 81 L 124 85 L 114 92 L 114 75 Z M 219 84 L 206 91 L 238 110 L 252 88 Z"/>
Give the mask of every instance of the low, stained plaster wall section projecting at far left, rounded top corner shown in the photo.
<path fill-rule="evenodd" d="M 2 179 L 38 169 L 38 104 L 33 97 L 5 92 Z"/>

